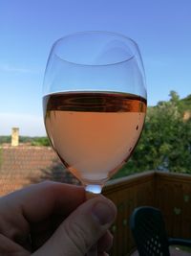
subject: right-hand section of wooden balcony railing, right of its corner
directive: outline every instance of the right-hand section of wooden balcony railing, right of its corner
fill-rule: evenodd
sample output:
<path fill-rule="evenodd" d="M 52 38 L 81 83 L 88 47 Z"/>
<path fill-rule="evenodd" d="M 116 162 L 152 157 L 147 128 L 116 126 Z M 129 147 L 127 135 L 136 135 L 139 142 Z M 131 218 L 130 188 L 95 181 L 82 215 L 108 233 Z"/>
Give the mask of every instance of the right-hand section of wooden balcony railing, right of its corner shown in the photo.
<path fill-rule="evenodd" d="M 191 175 L 156 173 L 155 205 L 168 235 L 191 239 Z"/>

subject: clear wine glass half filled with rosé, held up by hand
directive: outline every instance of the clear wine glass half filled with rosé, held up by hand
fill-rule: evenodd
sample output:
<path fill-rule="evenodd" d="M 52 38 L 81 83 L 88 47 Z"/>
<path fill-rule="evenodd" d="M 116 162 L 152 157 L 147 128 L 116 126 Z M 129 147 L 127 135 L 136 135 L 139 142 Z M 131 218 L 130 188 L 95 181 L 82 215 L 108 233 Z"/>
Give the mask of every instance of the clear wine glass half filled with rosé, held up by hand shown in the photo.
<path fill-rule="evenodd" d="M 43 107 L 53 150 L 87 192 L 99 194 L 143 128 L 146 88 L 136 42 L 109 32 L 58 39 L 45 71 Z"/>

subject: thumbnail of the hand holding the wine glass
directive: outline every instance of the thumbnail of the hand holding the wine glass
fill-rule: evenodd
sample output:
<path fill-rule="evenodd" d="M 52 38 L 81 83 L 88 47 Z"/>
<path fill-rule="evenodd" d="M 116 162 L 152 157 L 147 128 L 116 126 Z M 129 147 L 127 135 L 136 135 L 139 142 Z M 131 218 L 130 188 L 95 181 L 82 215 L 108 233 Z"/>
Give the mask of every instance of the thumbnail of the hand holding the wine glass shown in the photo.
<path fill-rule="evenodd" d="M 114 221 L 116 217 L 115 206 L 108 200 L 96 202 L 92 212 L 101 225 Z"/>

